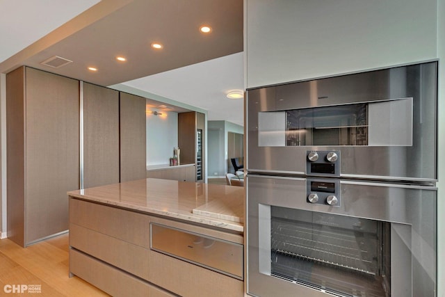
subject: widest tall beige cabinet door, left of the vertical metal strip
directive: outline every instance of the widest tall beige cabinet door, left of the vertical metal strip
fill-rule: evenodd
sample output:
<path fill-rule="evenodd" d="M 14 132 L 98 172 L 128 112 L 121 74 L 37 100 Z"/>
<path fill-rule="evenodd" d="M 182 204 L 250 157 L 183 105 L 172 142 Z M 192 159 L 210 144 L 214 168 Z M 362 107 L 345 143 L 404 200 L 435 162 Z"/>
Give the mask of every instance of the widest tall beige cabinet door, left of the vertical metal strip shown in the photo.
<path fill-rule="evenodd" d="M 79 81 L 26 67 L 26 242 L 68 229 L 79 188 Z"/>

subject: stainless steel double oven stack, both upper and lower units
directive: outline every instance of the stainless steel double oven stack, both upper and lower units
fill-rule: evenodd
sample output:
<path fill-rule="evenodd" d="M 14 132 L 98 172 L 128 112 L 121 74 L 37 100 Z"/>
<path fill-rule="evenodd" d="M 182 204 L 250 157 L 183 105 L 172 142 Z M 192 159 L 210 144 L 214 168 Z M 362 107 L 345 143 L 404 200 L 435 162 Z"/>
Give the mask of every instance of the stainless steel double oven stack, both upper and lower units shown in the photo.
<path fill-rule="evenodd" d="M 437 67 L 248 90 L 248 294 L 436 295 Z"/>

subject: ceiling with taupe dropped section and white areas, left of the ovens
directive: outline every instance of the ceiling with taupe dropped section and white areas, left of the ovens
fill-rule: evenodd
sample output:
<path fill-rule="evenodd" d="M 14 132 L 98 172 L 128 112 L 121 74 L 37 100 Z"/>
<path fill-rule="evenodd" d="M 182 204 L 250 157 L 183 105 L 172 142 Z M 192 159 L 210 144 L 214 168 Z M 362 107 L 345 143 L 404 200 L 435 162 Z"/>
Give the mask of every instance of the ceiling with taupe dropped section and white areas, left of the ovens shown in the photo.
<path fill-rule="evenodd" d="M 212 26 L 210 35 L 198 32 L 202 24 Z M 0 0 L 0 40 L 2 73 L 29 65 L 122 84 L 243 125 L 243 100 L 225 97 L 243 90 L 243 0 Z M 153 41 L 164 49 L 150 49 Z M 40 65 L 54 55 L 73 63 Z"/>

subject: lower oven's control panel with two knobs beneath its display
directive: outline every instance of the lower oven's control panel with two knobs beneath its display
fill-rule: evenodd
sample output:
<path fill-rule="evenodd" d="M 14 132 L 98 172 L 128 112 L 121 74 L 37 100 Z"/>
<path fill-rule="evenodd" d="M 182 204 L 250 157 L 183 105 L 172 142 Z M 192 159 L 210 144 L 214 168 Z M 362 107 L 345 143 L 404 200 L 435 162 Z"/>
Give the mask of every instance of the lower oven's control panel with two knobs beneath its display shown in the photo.
<path fill-rule="evenodd" d="M 340 206 L 340 182 L 338 180 L 307 179 L 308 203 Z"/>

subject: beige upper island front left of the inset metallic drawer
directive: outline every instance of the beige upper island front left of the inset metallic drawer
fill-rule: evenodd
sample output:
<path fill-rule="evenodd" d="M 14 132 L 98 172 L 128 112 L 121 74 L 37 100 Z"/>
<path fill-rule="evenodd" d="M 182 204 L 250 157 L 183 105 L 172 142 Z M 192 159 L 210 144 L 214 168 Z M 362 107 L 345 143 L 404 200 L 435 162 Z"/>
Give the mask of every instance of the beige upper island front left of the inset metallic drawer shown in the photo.
<path fill-rule="evenodd" d="M 150 218 L 133 211 L 70 198 L 70 223 L 149 248 Z"/>

